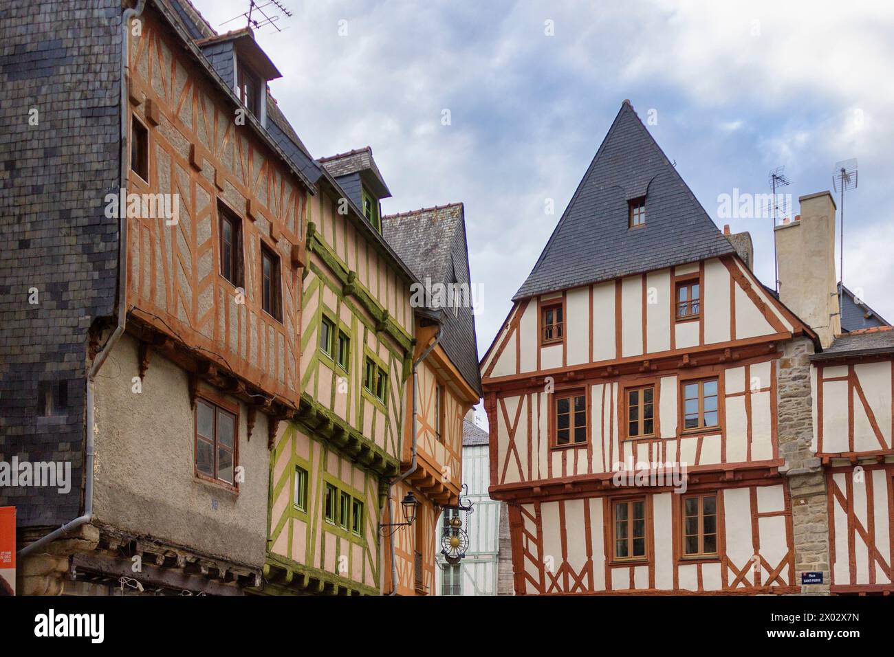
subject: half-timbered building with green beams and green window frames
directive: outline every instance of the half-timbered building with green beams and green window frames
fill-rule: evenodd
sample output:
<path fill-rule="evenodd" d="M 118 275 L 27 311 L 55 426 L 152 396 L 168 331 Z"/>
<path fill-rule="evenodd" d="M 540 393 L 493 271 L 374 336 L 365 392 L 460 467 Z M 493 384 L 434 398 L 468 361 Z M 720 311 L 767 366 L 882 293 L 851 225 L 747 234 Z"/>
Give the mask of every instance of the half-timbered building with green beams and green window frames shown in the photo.
<path fill-rule="evenodd" d="M 381 234 L 379 203 L 390 194 L 371 150 L 316 166 L 300 407 L 271 455 L 266 577 L 279 593 L 378 594 L 380 512 L 401 472 L 416 277 Z"/>

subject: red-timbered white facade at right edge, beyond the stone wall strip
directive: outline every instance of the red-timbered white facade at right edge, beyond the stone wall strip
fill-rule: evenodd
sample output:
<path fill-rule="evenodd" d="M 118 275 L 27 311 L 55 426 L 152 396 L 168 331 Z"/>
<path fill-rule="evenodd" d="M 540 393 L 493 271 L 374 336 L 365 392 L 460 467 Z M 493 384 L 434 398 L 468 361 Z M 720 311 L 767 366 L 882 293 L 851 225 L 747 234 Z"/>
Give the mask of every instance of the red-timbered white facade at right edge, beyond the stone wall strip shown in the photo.
<path fill-rule="evenodd" d="M 846 333 L 814 356 L 814 446 L 828 489 L 832 593 L 894 591 L 892 333 Z"/>

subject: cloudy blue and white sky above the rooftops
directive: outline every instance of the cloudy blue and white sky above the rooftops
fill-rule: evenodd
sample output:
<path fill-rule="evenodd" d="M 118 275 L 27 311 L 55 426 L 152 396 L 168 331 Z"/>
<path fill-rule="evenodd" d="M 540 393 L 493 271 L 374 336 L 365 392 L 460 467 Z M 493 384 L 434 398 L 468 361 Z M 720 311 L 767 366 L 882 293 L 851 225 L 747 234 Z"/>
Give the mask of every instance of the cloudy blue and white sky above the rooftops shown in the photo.
<path fill-rule="evenodd" d="M 248 0 L 193 2 L 245 24 L 223 21 Z M 256 38 L 311 153 L 373 147 L 389 214 L 465 203 L 480 355 L 625 98 L 715 222 L 751 232 L 768 284 L 772 221 L 721 219 L 718 197 L 768 193 L 784 165 L 794 215 L 856 157 L 845 283 L 894 321 L 894 3 L 282 2 Z"/>

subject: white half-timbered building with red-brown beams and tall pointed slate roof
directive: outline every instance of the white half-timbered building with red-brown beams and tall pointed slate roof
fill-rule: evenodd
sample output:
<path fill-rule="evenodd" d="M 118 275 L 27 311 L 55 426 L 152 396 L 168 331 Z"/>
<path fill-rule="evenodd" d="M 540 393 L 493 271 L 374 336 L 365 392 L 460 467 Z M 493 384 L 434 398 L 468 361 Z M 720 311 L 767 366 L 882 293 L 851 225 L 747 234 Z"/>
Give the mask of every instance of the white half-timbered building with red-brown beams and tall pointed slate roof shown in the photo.
<path fill-rule="evenodd" d="M 820 344 L 751 257 L 625 101 L 481 363 L 516 593 L 802 590 Z"/>

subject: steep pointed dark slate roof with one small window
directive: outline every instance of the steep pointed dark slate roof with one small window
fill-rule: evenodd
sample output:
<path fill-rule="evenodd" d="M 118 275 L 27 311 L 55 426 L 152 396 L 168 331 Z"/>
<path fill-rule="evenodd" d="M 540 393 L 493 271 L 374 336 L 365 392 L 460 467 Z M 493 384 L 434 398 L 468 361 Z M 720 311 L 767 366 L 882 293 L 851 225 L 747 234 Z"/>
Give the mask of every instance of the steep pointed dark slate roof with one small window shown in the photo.
<path fill-rule="evenodd" d="M 645 196 L 645 227 L 628 201 Z M 734 253 L 628 101 L 513 300 Z"/>

